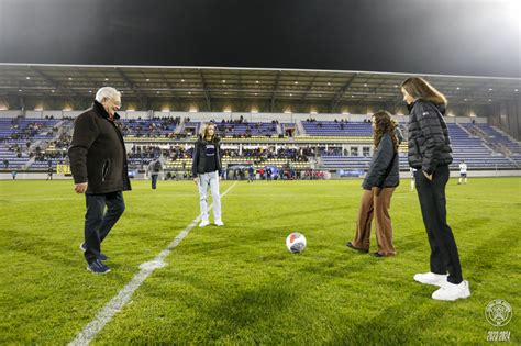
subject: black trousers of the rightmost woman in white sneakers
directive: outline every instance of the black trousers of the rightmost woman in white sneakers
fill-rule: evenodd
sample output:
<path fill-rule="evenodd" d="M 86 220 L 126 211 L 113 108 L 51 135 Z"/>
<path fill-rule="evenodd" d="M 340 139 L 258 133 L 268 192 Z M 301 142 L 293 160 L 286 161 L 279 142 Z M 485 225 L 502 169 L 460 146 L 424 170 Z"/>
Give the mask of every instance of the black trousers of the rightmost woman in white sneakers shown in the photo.
<path fill-rule="evenodd" d="M 457 254 L 456 241 L 446 221 L 445 186 L 448 181 L 448 166 L 439 166 L 432 181 L 422 171 L 417 177 L 417 190 L 420 199 L 423 223 L 431 245 L 431 271 L 447 274 L 447 281 L 459 283 L 462 265 Z"/>

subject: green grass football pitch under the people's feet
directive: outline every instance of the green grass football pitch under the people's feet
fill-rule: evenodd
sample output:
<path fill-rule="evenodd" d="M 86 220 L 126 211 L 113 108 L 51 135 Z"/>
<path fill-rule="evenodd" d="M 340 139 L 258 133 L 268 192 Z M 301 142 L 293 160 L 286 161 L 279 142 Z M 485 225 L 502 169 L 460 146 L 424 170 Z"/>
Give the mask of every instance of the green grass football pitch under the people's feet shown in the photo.
<path fill-rule="evenodd" d="M 239 182 L 223 198 L 226 225 L 193 228 L 93 344 L 485 344 L 488 331 L 521 343 L 521 179 L 451 179 L 448 223 L 472 290 L 455 303 L 412 280 L 429 270 L 429 245 L 409 181 L 391 202 L 398 256 L 384 259 L 344 245 L 361 180 Z M 97 276 L 78 249 L 85 198 L 71 181 L 0 181 L 0 344 L 68 343 L 198 215 L 193 182 L 133 188 L 102 247 L 112 272 Z M 300 255 L 285 247 L 292 231 L 308 239 Z M 494 299 L 513 308 L 505 327 L 485 319 Z"/>

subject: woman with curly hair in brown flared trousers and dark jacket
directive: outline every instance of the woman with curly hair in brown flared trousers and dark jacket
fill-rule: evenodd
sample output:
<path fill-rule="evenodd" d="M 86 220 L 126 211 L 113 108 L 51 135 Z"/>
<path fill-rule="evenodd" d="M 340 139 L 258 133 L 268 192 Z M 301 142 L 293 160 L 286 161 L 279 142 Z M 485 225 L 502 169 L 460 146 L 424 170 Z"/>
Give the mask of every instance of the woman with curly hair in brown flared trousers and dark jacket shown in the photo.
<path fill-rule="evenodd" d="M 390 200 L 400 183 L 399 138 L 396 123 L 389 112 L 379 111 L 373 115 L 373 141 L 375 152 L 362 187 L 361 207 L 356 220 L 356 234 L 346 246 L 363 253 L 369 252 L 370 223 L 376 219 L 376 242 L 378 250 L 374 257 L 395 256 L 392 223 L 389 215 Z"/>

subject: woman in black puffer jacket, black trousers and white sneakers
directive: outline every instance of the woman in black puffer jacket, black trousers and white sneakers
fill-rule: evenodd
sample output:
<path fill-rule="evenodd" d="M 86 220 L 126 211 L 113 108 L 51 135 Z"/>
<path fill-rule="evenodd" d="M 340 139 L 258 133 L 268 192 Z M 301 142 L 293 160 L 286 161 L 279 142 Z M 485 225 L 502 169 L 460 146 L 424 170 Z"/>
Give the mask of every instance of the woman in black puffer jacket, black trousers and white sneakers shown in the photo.
<path fill-rule="evenodd" d="M 470 289 L 463 280 L 456 241 L 446 222 L 445 186 L 453 160 L 443 120 L 447 101 L 419 77 L 406 79 L 401 92 L 410 111 L 409 165 L 419 170 L 418 198 L 431 246 L 431 271 L 414 275 L 414 280 L 440 287 L 432 293 L 435 300 L 465 299 L 470 297 Z"/>

